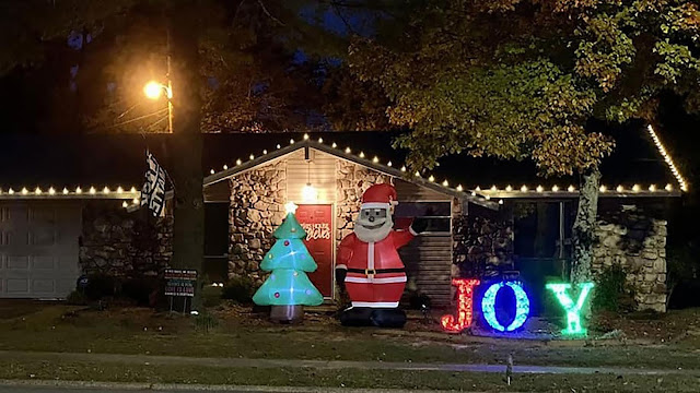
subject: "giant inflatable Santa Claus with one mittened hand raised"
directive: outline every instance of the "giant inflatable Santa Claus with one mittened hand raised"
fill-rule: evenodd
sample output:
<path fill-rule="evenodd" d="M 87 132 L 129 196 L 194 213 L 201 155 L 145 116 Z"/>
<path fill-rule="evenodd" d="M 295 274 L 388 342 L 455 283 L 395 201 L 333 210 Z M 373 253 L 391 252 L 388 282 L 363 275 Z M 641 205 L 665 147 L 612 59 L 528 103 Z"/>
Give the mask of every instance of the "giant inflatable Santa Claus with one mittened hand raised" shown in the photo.
<path fill-rule="evenodd" d="M 353 233 L 340 242 L 336 279 L 352 301 L 340 315 L 343 325 L 400 327 L 406 323 L 406 313 L 398 309 L 406 267 L 397 250 L 424 230 L 425 222 L 417 218 L 410 228 L 395 230 L 396 204 L 392 184 L 370 187 L 362 195 Z"/>

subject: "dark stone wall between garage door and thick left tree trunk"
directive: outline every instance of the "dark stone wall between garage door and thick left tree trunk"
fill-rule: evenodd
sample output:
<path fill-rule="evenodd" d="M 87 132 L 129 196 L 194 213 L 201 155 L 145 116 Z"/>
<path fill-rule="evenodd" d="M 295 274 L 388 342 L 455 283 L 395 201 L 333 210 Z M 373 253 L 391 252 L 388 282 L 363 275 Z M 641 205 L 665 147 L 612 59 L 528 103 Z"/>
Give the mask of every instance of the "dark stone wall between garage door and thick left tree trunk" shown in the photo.
<path fill-rule="evenodd" d="M 83 209 L 80 265 L 84 274 L 156 276 L 173 255 L 173 217 L 128 213 L 115 201 Z"/>

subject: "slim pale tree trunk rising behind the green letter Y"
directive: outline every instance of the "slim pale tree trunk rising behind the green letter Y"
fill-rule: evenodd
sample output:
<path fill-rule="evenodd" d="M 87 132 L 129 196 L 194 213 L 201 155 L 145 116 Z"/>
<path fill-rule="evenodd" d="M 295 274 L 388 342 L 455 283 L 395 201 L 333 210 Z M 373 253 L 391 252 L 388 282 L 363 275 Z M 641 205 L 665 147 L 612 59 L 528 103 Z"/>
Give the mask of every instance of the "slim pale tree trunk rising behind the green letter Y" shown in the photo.
<path fill-rule="evenodd" d="M 581 180 L 581 193 L 579 195 L 579 209 L 576 219 L 573 223 L 572 241 L 573 259 L 571 266 L 571 284 L 574 291 L 576 285 L 591 279 L 591 265 L 593 264 L 593 242 L 598 215 L 598 190 L 600 182 L 600 169 L 597 167 L 586 170 Z M 575 297 L 574 297 L 575 299 Z"/>

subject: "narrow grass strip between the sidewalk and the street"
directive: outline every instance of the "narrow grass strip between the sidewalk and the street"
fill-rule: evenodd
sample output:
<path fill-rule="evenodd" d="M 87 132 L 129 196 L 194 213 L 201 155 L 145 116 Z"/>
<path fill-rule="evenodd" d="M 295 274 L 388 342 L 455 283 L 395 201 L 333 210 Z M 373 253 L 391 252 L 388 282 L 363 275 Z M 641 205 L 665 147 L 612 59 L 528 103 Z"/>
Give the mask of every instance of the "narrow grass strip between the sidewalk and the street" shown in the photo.
<path fill-rule="evenodd" d="M 0 379 L 110 382 L 432 389 L 517 392 L 697 392 L 700 378 L 669 376 L 516 374 L 509 386 L 500 374 L 443 371 L 237 369 L 83 362 L 0 360 Z"/>

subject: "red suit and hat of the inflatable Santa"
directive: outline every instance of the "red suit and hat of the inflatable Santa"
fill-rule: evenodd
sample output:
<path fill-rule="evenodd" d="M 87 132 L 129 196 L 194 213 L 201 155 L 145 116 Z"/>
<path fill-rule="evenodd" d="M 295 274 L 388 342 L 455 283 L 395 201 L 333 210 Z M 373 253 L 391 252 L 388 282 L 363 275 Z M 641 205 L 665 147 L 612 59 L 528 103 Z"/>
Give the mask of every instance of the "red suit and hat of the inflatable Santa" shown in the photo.
<path fill-rule="evenodd" d="M 389 219 L 389 206 L 395 203 L 396 190 L 390 184 L 372 186 L 362 195 L 362 209 L 386 209 Z M 411 229 L 390 229 L 377 241 L 362 241 L 354 233 L 342 239 L 337 267 L 347 267 L 345 285 L 353 307 L 398 307 L 406 286 L 406 267 L 397 250 L 415 235 Z"/>

